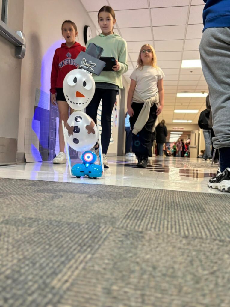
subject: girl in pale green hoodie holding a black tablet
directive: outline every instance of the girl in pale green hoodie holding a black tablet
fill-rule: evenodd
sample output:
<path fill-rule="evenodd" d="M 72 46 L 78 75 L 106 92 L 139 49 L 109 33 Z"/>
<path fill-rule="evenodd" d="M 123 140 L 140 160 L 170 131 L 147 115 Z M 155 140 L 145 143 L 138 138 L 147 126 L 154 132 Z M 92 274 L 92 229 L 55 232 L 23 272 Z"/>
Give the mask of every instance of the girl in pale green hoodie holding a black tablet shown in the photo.
<path fill-rule="evenodd" d="M 111 116 L 116 97 L 120 88 L 123 88 L 121 75 L 127 72 L 127 44 L 119 34 L 113 33 L 113 26 L 116 23 L 114 10 L 110 6 L 103 6 L 98 12 L 98 23 L 102 33 L 91 38 L 89 43 L 94 43 L 104 49 L 102 56 L 114 57 L 115 63 L 113 71 L 102 71 L 100 76 L 94 75 L 96 89 L 94 97 L 90 104 L 86 107 L 86 113 L 96 122 L 97 111 L 100 101 L 102 100 L 102 153 L 104 167 L 109 167 L 107 162 L 107 150 L 109 148 L 109 140 L 111 135 Z M 98 145 L 94 146 L 97 152 Z"/>

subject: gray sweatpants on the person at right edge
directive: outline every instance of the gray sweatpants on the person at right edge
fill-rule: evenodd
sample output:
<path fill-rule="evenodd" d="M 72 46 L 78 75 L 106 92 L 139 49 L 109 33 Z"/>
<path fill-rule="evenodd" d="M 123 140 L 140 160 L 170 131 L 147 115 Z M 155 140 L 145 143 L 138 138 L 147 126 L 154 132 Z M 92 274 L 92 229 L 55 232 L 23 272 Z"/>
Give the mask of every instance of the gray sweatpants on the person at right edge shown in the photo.
<path fill-rule="evenodd" d="M 230 27 L 208 28 L 199 46 L 209 86 L 214 148 L 230 147 Z"/>

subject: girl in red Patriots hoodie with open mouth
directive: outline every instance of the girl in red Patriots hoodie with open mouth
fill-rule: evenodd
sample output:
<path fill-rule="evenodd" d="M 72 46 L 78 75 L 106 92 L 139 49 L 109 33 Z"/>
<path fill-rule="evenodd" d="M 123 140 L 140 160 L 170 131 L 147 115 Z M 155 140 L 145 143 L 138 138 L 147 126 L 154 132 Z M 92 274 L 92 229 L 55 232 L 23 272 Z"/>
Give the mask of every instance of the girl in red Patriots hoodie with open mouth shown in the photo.
<path fill-rule="evenodd" d="M 60 152 L 53 159 L 53 163 L 62 164 L 66 163 L 66 154 L 64 153 L 65 142 L 62 132 L 62 121 L 66 124 L 68 119 L 69 105 L 65 99 L 63 93 L 63 80 L 68 72 L 77 68 L 77 64 L 74 62 L 76 57 L 81 51 L 85 51 L 86 48 L 81 46 L 75 41 L 78 34 L 77 26 L 71 20 L 66 20 L 62 24 L 62 35 L 65 39 L 65 43 L 57 48 L 53 57 L 52 71 L 51 71 L 51 103 L 58 105 L 59 110 L 59 146 Z M 70 112 L 73 109 L 70 108 Z"/>

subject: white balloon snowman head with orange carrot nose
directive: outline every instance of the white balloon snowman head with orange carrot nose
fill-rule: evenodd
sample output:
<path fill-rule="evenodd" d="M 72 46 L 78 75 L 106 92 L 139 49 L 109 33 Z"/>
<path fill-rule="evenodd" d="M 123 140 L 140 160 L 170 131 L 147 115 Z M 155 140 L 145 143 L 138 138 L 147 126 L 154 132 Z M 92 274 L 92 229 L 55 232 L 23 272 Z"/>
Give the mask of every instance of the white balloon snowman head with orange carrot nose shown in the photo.
<path fill-rule="evenodd" d="M 65 76 L 63 92 L 72 109 L 83 110 L 94 96 L 95 81 L 89 72 L 73 69 Z"/>

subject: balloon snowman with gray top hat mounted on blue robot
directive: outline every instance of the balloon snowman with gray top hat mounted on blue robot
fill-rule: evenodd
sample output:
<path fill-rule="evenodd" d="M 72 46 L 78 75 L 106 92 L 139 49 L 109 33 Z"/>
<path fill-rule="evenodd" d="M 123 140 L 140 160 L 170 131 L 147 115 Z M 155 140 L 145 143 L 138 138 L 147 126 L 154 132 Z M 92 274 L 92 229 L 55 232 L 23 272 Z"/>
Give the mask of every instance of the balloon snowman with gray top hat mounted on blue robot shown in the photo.
<path fill-rule="evenodd" d="M 80 52 L 79 55 L 80 57 L 83 56 L 83 65 L 80 66 L 94 71 L 92 67 L 95 67 L 96 64 L 89 64 L 89 62 L 87 64 L 85 59 L 85 57 L 89 56 L 86 55 L 85 52 Z M 95 62 L 98 61 L 102 62 L 95 59 Z M 102 65 L 102 68 L 103 66 L 104 65 Z M 95 122 L 89 115 L 84 113 L 84 108 L 88 106 L 95 92 L 95 81 L 91 73 L 85 69 L 81 69 L 81 67 L 80 69 L 78 68 L 71 70 L 71 72 L 65 76 L 63 81 L 63 92 L 67 103 L 74 110 L 74 112 L 68 118 L 65 127 L 64 122 L 62 122 L 70 175 L 76 176 L 77 178 L 84 177 L 85 175 L 94 179 L 97 177 L 102 177 L 102 174 L 104 173 L 104 165 L 102 162 L 103 159 L 100 134 Z M 97 142 L 99 144 L 100 165 L 94 164 L 94 162 L 97 160 L 97 156 L 90 150 Z M 71 160 L 67 143 L 73 149 L 81 152 L 83 151 L 81 156 L 83 161 L 82 164 L 75 164 L 71 168 Z"/>

